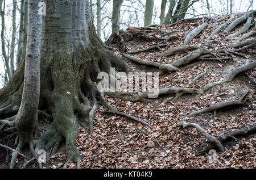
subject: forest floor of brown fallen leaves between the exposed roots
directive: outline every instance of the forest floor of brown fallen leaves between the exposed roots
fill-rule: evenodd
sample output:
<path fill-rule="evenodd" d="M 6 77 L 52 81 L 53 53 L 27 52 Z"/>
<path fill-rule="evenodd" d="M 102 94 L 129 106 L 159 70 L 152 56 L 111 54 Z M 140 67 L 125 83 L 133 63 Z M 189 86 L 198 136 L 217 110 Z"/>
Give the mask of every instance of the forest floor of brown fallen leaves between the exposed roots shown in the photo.
<path fill-rule="evenodd" d="M 224 19 L 224 22 L 227 19 Z M 223 22 L 210 20 L 209 26 L 192 40 L 192 45 L 206 48 L 216 52 L 219 49 L 229 49 L 230 44 L 236 43 L 241 37 L 229 39 L 228 34 L 221 32 L 213 37 L 214 43 L 207 43 L 210 33 Z M 192 51 L 170 57 L 158 57 L 157 55 L 168 49 L 184 45 L 185 35 L 177 35 L 170 41 L 159 40 L 167 32 L 180 30 L 187 33 L 199 26 L 201 20 L 186 22 L 185 20 L 174 26 L 163 25 L 155 27 L 148 32 L 148 37 L 134 38 L 126 43 L 128 49 L 141 49 L 150 45 L 170 43 L 160 49 L 139 52 L 133 56 L 143 60 L 151 60 L 164 64 L 171 64 L 175 60 L 184 57 Z M 241 26 L 238 26 L 237 31 Z M 252 27 L 253 28 L 253 27 Z M 251 30 L 251 29 L 250 29 Z M 155 38 L 154 38 L 155 37 Z M 252 36 L 255 38 L 255 36 Z M 232 58 L 222 60 L 194 60 L 190 64 L 182 66 L 179 71 L 160 76 L 159 87 L 188 87 L 201 89 L 209 82 L 220 81 L 233 69 L 244 65 L 247 58 L 255 58 L 255 47 L 245 49 L 241 53 L 245 57 L 233 55 Z M 116 45 L 112 45 L 112 51 L 122 58 L 122 52 Z M 137 72 L 156 72 L 158 68 L 140 65 L 129 61 L 130 68 Z M 193 78 L 201 73 L 206 73 L 195 82 Z M 195 128 L 177 127 L 177 122 L 185 121 L 197 123 L 211 136 L 218 137 L 222 132 L 230 129 L 244 127 L 255 122 L 256 119 L 256 94 L 255 94 L 255 69 L 238 74 L 232 82 L 222 83 L 207 90 L 203 95 L 183 94 L 168 103 L 162 103 L 166 98 L 175 95 L 162 95 L 158 99 L 147 102 L 129 102 L 108 97 L 107 100 L 119 111 L 141 118 L 150 125 L 135 123 L 122 116 L 106 113 L 106 108 L 101 107 L 96 111 L 94 131 L 92 134 L 79 128 L 80 135 L 76 140 L 82 160 L 81 168 L 256 168 L 256 133 L 251 132 L 245 136 L 230 138 L 223 143 L 225 152 L 217 148 L 216 161 L 210 161 L 212 155 L 209 152 L 196 156 L 196 146 L 206 141 Z M 193 115 L 184 118 L 192 111 L 209 107 L 222 101 L 239 99 L 247 91 L 250 95 L 242 105 L 220 108 L 216 112 Z M 51 122 L 49 122 L 51 123 Z M 49 123 L 39 120 L 40 134 L 48 127 Z M 38 136 L 35 137 L 37 139 Z M 0 136 L 2 139 L 2 136 Z M 14 137 L 3 140 L 6 145 L 14 145 Z M 31 157 L 28 148 L 23 153 Z M 11 152 L 0 150 L 0 168 L 8 168 Z M 26 163 L 23 157 L 19 157 L 17 167 Z M 43 168 L 61 168 L 67 161 L 65 145 L 61 145 L 57 154 L 48 157 L 47 164 Z M 36 161 L 31 162 L 27 168 L 39 168 Z M 69 164 L 68 168 L 76 168 L 75 164 Z"/>

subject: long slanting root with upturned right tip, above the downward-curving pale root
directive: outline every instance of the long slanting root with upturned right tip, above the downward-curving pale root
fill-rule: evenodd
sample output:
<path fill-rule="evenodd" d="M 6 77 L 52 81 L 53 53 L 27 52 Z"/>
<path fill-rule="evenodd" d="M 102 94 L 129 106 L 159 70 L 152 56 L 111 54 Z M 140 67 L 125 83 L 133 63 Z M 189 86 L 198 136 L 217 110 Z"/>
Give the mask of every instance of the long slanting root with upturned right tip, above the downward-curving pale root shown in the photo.
<path fill-rule="evenodd" d="M 219 102 L 217 104 L 213 104 L 210 107 L 203 108 L 202 110 L 193 111 L 190 114 L 188 114 L 187 117 L 197 115 L 197 114 L 203 114 L 205 112 L 215 111 L 215 110 L 218 110 L 220 108 L 227 107 L 227 106 L 234 106 L 234 105 L 243 104 L 243 103 L 246 102 L 247 95 L 249 95 L 249 91 L 246 94 L 242 95 L 242 97 L 238 100 L 229 100 L 229 101 Z"/>

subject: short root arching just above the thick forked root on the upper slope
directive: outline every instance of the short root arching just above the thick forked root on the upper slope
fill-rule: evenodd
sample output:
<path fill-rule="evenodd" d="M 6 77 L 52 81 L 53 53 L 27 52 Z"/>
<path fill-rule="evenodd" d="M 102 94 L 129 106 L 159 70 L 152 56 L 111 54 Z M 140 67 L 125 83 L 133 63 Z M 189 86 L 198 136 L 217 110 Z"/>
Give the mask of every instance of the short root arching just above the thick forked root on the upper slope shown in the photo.
<path fill-rule="evenodd" d="M 185 53 L 191 50 L 198 49 L 199 47 L 196 45 L 183 45 L 183 46 L 178 46 L 175 48 L 172 48 L 168 51 L 164 51 L 158 55 L 158 57 L 167 57 L 167 56 L 172 56 L 180 53 Z"/>

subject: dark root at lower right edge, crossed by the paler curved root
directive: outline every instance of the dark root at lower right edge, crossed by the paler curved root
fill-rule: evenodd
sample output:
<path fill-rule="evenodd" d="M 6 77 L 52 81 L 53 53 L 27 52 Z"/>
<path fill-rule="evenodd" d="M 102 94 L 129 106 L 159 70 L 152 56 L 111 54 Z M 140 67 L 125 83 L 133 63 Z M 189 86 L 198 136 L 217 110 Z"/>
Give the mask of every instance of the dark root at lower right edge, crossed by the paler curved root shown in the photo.
<path fill-rule="evenodd" d="M 226 132 L 222 132 L 218 136 L 218 141 L 223 143 L 224 141 L 230 139 L 230 137 L 236 137 L 241 135 L 246 135 L 249 132 L 253 132 L 256 130 L 256 123 L 247 124 L 245 127 L 239 128 L 239 129 L 231 129 Z M 213 149 L 215 147 L 214 144 L 205 142 L 203 144 L 200 144 L 196 147 L 196 156 L 200 156 L 201 154 L 204 154 L 205 152 L 208 152 L 210 149 Z"/>

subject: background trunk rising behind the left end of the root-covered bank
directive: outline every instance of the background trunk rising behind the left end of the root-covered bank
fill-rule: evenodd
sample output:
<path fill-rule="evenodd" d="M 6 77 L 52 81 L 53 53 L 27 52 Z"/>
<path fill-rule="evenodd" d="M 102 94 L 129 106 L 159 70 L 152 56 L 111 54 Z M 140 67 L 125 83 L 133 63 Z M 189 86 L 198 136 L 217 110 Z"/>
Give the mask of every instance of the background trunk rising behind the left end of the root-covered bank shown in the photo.
<path fill-rule="evenodd" d="M 112 34 L 116 32 L 119 34 L 120 28 L 120 10 L 123 0 L 113 0 L 113 11 L 112 11 Z"/>

